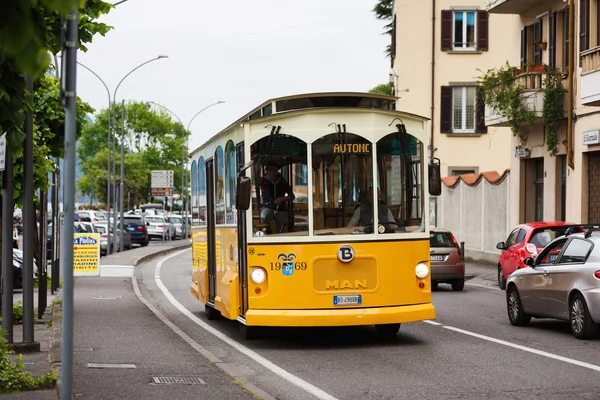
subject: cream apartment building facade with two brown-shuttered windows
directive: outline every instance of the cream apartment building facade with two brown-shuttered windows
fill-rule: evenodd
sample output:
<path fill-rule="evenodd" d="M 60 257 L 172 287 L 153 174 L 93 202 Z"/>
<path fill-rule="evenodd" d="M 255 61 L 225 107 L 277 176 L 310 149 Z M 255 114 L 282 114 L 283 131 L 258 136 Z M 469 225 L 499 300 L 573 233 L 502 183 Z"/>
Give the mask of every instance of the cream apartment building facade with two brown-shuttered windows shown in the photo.
<path fill-rule="evenodd" d="M 485 0 L 395 0 L 390 82 L 399 110 L 431 118 L 430 156 L 442 176 L 504 172 L 511 131 L 485 123 L 478 77 L 518 62 L 520 19 L 491 15 Z"/>

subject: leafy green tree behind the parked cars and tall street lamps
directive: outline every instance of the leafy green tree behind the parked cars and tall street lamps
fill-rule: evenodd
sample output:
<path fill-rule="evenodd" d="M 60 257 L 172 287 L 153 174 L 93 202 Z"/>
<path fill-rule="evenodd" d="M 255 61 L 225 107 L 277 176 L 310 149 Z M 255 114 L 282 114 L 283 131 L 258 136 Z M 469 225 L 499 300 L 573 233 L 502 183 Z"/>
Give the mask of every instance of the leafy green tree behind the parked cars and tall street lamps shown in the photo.
<path fill-rule="evenodd" d="M 111 143 L 118 143 L 112 160 L 120 164 L 121 105 L 116 105 L 116 129 L 111 133 Z M 149 202 L 150 176 L 152 170 L 173 170 L 174 186 L 181 193 L 181 173 L 184 166 L 182 149 L 189 132 L 174 122 L 164 112 L 156 112 L 149 103 L 125 104 L 125 192 L 134 204 Z M 84 176 L 78 181 L 80 192 L 96 198 L 107 198 L 108 112 L 101 110 L 93 124 L 84 127 L 79 141 L 79 164 Z M 115 142 L 115 140 L 117 140 Z M 111 149 L 112 150 L 112 149 Z M 117 168 L 119 174 L 120 168 Z M 117 177 L 117 182 L 120 177 Z M 113 182 L 114 183 L 114 182 Z"/>

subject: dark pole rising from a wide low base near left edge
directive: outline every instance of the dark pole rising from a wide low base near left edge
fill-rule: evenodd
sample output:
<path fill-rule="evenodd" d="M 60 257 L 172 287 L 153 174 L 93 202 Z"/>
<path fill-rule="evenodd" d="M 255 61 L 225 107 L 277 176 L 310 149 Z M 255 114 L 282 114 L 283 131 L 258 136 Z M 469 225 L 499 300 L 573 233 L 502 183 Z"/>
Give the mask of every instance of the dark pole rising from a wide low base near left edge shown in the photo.
<path fill-rule="evenodd" d="M 29 101 L 33 102 L 33 80 L 25 78 Z M 25 145 L 23 154 L 23 343 L 34 341 L 33 332 L 33 254 L 36 223 L 33 209 L 33 115 L 25 113 Z M 11 263 L 12 264 L 12 263 Z"/>

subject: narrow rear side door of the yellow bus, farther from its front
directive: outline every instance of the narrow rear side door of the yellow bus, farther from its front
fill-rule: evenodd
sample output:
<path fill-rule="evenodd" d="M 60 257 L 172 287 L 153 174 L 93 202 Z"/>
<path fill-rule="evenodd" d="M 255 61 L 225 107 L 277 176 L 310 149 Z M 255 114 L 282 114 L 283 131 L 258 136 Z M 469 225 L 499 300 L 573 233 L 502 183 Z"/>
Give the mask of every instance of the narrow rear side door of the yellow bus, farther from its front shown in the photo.
<path fill-rule="evenodd" d="M 214 304 L 217 291 L 217 246 L 215 243 L 215 168 L 206 161 L 206 226 L 208 244 L 208 301 Z"/>

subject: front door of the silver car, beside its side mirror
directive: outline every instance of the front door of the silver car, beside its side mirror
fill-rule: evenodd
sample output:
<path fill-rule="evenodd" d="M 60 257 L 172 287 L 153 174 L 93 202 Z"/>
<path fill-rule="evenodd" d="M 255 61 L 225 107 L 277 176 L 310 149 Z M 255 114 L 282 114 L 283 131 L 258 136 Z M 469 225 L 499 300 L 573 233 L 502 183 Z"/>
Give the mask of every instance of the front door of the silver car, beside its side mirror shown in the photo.
<path fill-rule="evenodd" d="M 549 269 L 556 264 L 567 240 L 567 237 L 562 237 L 550 243 L 536 257 L 534 266 L 517 278 L 523 309 L 528 314 L 547 315 L 548 304 L 544 293 L 549 280 Z"/>

